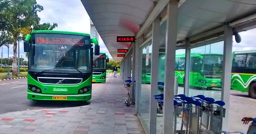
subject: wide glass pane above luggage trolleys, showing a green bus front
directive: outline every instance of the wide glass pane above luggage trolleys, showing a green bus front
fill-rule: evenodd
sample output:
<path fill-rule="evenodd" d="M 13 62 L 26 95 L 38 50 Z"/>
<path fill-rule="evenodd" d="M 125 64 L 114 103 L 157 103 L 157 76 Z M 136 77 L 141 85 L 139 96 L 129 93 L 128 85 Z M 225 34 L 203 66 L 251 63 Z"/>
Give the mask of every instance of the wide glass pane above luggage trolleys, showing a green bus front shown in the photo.
<path fill-rule="evenodd" d="M 223 41 L 192 48 L 188 96 L 221 100 Z"/>

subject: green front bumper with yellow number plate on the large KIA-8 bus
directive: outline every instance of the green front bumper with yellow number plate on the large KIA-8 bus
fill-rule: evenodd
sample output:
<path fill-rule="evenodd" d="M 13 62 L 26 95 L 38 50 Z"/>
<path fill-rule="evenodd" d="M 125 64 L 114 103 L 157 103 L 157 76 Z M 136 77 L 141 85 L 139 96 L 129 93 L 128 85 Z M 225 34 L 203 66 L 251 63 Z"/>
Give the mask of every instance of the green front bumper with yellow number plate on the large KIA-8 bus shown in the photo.
<path fill-rule="evenodd" d="M 27 92 L 28 100 L 47 100 L 47 101 L 90 101 L 91 94 L 79 95 L 52 95 L 52 94 L 38 94 Z"/>

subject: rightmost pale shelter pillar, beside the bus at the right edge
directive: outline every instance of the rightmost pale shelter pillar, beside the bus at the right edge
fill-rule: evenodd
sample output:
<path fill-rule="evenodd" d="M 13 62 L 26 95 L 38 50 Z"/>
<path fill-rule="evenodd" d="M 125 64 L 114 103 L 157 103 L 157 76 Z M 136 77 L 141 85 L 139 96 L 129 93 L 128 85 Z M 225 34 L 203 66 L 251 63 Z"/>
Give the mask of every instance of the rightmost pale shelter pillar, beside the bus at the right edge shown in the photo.
<path fill-rule="evenodd" d="M 225 118 L 223 118 L 222 130 L 228 131 L 229 96 L 231 85 L 231 65 L 232 65 L 232 35 L 233 30 L 228 25 L 224 25 L 224 52 L 222 62 L 222 87 L 221 100 L 225 102 Z"/>

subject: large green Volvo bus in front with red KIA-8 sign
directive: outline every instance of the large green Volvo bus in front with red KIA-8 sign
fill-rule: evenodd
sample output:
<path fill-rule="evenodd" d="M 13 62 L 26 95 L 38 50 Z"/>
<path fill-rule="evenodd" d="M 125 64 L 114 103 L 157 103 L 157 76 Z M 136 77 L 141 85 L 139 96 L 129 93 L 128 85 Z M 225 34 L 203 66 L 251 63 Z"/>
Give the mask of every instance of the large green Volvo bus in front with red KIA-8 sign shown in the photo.
<path fill-rule="evenodd" d="M 89 34 L 37 30 L 27 34 L 27 99 L 89 101 L 91 99 L 92 44 Z"/>

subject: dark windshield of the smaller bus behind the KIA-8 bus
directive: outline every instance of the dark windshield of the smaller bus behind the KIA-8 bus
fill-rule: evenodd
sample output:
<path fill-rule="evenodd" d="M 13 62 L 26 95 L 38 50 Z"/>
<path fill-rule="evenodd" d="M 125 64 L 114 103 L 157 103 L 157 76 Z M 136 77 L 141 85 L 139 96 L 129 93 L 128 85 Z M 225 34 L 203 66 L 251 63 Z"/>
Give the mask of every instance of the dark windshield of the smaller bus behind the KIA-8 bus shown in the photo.
<path fill-rule="evenodd" d="M 105 55 L 93 55 L 93 69 L 106 69 Z"/>

